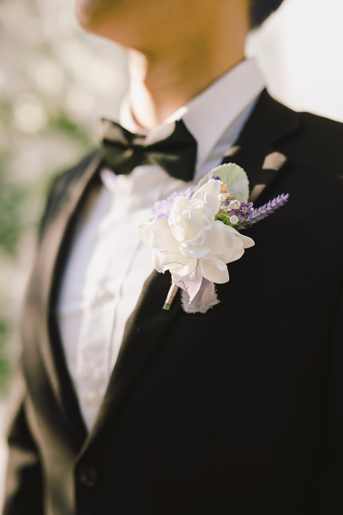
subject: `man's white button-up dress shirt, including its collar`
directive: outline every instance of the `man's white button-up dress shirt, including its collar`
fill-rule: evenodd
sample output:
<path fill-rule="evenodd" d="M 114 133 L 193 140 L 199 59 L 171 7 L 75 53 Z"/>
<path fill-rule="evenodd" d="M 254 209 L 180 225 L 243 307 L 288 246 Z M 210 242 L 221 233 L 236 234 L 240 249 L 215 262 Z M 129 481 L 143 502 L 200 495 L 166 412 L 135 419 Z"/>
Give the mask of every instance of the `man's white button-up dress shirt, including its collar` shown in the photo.
<path fill-rule="evenodd" d="M 245 60 L 174 113 L 197 141 L 194 181 L 218 166 L 237 140 L 264 80 L 254 60 Z M 140 132 L 124 100 L 120 123 Z M 153 271 L 151 249 L 136 234 L 157 200 L 190 183 L 157 165 L 130 175 L 101 172 L 103 186 L 91 211 L 79 220 L 63 273 L 57 316 L 67 367 L 90 430 L 120 349 L 125 323 Z"/>

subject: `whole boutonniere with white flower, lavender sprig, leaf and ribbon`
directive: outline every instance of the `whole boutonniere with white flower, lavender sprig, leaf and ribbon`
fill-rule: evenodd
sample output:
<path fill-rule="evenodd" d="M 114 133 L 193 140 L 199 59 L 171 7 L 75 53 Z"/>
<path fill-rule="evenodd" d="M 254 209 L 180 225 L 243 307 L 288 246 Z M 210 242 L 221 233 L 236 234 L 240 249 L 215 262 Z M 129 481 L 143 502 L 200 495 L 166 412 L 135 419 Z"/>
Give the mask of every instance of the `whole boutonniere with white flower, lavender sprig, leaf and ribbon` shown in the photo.
<path fill-rule="evenodd" d="M 206 313 L 218 304 L 214 284 L 229 280 L 227 264 L 242 257 L 255 242 L 240 233 L 281 207 L 288 194 L 254 209 L 243 168 L 228 163 L 214 168 L 185 194 L 175 193 L 155 204 L 151 221 L 136 225 L 152 249 L 158 272 L 171 273 L 165 310 L 182 289 L 187 313 Z"/>

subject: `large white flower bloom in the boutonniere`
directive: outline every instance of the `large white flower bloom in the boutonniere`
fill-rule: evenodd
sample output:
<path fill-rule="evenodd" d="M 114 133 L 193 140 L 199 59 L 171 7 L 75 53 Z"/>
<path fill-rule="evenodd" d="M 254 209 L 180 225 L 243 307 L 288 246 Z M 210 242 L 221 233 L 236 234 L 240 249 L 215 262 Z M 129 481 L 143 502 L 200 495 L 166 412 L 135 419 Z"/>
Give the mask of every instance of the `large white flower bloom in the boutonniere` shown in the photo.
<path fill-rule="evenodd" d="M 226 263 L 240 259 L 244 249 L 255 245 L 248 236 L 214 220 L 221 207 L 220 191 L 221 181 L 209 181 L 191 199 L 175 197 L 168 217 L 137 224 L 138 236 L 153 249 L 156 270 L 170 270 L 174 283 L 196 266 L 205 279 L 226 283 Z"/>

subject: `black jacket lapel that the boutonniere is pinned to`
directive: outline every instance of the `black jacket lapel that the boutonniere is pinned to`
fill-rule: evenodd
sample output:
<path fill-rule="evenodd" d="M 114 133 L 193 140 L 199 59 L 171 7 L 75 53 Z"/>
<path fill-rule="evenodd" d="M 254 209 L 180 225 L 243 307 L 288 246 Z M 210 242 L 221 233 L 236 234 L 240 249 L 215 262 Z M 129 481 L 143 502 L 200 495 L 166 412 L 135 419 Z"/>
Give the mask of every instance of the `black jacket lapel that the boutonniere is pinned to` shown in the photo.
<path fill-rule="evenodd" d="M 273 124 L 277 125 L 278 130 Z M 251 198 L 254 200 L 276 179 L 287 161 L 281 152 L 273 148 L 272 142 L 294 132 L 297 126 L 297 113 L 282 106 L 264 91 L 236 145 L 229 149 L 223 160 L 234 160 L 247 171 Z M 154 271 L 147 279 L 137 306 L 125 327 L 109 386 L 81 454 L 98 438 L 102 427 L 118 415 L 149 359 L 181 313 L 179 295 L 170 311 L 162 309 L 169 287 L 169 272 L 161 274 Z"/>

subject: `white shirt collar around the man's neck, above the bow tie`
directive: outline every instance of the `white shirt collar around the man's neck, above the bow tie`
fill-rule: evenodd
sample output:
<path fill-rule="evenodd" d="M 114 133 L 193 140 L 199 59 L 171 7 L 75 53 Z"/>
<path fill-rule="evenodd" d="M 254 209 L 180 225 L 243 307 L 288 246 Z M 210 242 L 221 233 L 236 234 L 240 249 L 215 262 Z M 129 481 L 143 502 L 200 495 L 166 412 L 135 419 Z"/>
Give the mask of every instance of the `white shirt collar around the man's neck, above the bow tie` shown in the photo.
<path fill-rule="evenodd" d="M 197 142 L 195 174 L 204 165 L 223 133 L 264 87 L 265 82 L 255 59 L 245 59 L 166 119 L 164 124 L 182 118 L 194 136 Z M 122 101 L 119 119 L 121 125 L 131 132 L 147 133 L 136 124 L 128 95 Z"/>

